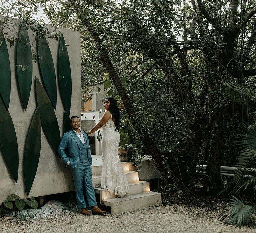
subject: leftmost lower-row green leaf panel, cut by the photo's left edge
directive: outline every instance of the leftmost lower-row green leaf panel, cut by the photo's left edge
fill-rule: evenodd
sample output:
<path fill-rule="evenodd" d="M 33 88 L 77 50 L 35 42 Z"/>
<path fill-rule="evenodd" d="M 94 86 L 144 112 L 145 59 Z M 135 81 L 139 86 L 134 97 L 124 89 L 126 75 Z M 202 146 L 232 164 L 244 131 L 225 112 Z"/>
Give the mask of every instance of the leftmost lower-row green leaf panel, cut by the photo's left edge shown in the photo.
<path fill-rule="evenodd" d="M 17 183 L 19 170 L 19 151 L 16 132 L 9 111 L 0 98 L 0 145 L 6 165 Z"/>

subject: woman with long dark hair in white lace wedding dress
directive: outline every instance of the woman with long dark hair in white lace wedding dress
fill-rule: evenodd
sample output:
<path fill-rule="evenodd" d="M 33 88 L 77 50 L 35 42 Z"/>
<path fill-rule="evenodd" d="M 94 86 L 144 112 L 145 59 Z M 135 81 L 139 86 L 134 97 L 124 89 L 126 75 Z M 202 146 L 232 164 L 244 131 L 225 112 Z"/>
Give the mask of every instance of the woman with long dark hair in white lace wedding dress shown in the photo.
<path fill-rule="evenodd" d="M 113 97 L 106 97 L 104 101 L 105 113 L 101 120 L 90 131 L 85 131 L 88 135 L 101 129 L 101 149 L 102 149 L 102 168 L 101 168 L 101 188 L 107 188 L 112 194 L 125 197 L 129 189 L 119 155 L 117 153 L 120 134 L 118 126 L 120 112 Z"/>

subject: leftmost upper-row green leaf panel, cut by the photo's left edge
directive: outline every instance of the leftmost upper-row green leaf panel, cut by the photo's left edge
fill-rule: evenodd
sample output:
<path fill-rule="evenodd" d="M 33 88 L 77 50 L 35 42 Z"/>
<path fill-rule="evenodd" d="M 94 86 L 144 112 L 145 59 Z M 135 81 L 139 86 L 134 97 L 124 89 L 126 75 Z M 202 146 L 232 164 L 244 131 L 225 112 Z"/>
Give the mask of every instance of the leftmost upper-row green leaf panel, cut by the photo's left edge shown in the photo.
<path fill-rule="evenodd" d="M 8 109 L 11 96 L 11 68 L 6 41 L 2 33 L 0 34 L 0 83 L 0 94 Z"/>

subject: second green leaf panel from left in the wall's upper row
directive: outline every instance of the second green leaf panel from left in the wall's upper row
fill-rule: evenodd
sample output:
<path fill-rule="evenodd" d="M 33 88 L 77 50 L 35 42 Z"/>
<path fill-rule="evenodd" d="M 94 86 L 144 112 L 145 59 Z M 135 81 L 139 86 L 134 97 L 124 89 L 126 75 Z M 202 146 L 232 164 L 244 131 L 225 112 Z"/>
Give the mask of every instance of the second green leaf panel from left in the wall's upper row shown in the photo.
<path fill-rule="evenodd" d="M 27 109 L 32 84 L 32 53 L 28 31 L 25 24 L 20 26 L 19 40 L 17 40 L 16 69 L 21 100 Z"/>

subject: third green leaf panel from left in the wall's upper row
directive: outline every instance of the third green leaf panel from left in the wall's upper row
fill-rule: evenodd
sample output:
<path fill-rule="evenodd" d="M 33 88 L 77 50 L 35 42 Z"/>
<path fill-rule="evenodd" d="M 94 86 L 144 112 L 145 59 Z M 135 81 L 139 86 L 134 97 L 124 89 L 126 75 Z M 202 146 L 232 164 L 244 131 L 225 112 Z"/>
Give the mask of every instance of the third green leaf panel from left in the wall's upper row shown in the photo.
<path fill-rule="evenodd" d="M 37 34 L 37 53 L 40 73 L 52 106 L 56 109 L 57 86 L 52 54 L 44 35 Z"/>

